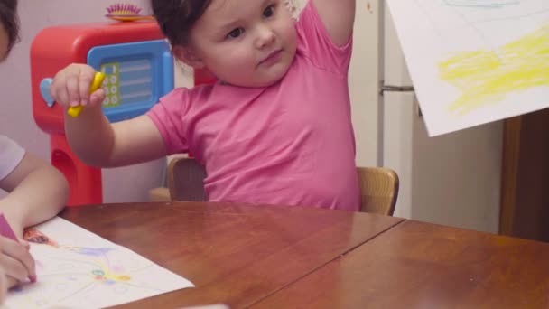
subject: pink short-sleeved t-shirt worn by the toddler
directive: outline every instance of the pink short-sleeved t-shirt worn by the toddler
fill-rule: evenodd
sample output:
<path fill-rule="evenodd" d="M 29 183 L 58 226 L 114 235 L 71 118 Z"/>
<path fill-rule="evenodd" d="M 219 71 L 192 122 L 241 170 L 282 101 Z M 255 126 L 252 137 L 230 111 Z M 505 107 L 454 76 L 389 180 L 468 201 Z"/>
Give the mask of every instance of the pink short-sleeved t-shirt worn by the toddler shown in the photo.
<path fill-rule="evenodd" d="M 174 89 L 147 114 L 170 154 L 206 166 L 209 201 L 359 210 L 348 70 L 310 2 L 293 64 L 266 88 Z"/>

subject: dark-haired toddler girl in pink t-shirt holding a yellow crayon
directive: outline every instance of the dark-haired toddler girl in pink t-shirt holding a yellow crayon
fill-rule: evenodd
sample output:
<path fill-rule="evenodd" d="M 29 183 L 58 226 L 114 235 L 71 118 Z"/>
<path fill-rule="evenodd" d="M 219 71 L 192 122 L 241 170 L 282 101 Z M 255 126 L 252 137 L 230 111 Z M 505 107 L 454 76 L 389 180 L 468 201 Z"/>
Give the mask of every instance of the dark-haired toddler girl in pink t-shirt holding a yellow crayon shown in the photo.
<path fill-rule="evenodd" d="M 70 146 L 88 164 L 136 164 L 191 152 L 209 201 L 358 211 L 348 71 L 355 0 L 152 0 L 172 53 L 213 85 L 174 89 L 146 115 L 110 124 L 93 68 L 72 64 L 51 95 Z"/>

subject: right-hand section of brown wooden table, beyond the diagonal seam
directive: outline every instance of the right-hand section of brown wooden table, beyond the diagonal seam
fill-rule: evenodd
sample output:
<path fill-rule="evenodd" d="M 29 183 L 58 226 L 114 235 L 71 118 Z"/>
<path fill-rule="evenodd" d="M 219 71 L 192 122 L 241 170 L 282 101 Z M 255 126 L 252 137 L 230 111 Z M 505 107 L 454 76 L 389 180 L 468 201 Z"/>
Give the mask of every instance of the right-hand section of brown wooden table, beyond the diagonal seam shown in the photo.
<path fill-rule="evenodd" d="M 549 244 L 406 220 L 252 308 L 548 308 Z"/>

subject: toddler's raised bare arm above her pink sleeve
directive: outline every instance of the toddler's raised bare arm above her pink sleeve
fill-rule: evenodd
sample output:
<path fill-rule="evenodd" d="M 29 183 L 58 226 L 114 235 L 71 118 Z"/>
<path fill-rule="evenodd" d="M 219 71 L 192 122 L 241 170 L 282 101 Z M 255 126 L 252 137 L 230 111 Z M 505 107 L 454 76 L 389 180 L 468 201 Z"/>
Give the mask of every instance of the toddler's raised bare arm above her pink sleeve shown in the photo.
<path fill-rule="evenodd" d="M 356 0 L 310 0 L 313 2 L 322 23 L 338 46 L 349 42 L 355 23 Z"/>

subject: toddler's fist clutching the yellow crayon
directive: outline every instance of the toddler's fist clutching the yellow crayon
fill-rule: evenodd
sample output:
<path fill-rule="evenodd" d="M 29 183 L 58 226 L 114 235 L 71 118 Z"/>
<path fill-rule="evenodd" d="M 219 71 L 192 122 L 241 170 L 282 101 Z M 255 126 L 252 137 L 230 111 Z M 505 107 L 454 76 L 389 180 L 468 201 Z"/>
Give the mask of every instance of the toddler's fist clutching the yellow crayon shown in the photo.
<path fill-rule="evenodd" d="M 51 83 L 51 97 L 63 108 L 79 105 L 94 107 L 103 102 L 105 91 L 101 88 L 89 94 L 95 70 L 87 64 L 70 64 L 60 70 Z"/>

